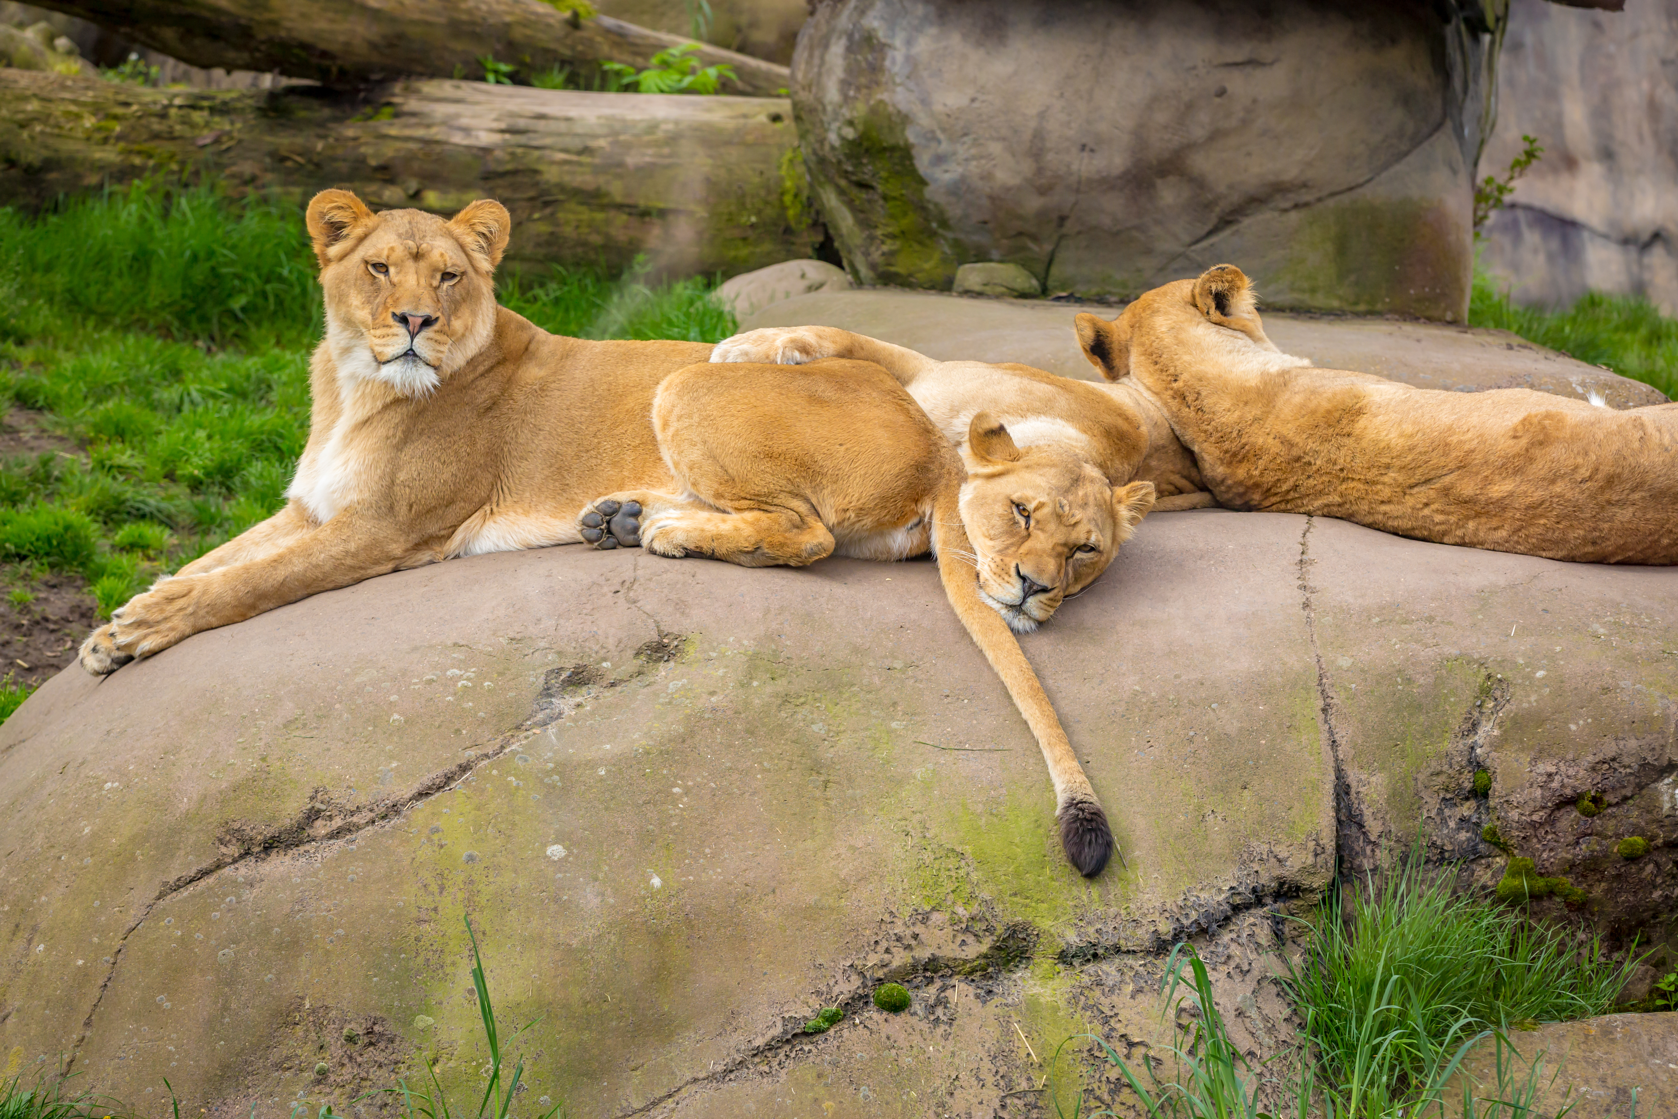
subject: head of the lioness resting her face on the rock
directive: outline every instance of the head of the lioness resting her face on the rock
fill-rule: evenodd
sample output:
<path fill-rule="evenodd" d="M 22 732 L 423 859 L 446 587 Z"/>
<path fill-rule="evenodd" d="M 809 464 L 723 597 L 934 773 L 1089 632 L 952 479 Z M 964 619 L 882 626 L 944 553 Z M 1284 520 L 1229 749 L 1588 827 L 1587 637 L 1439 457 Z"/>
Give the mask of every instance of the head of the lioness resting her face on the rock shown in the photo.
<path fill-rule="evenodd" d="M 1092 584 L 1154 503 L 1151 481 L 1113 487 L 1069 451 L 1019 448 L 987 413 L 968 428 L 963 460 L 961 523 L 978 591 L 1017 632 Z"/>

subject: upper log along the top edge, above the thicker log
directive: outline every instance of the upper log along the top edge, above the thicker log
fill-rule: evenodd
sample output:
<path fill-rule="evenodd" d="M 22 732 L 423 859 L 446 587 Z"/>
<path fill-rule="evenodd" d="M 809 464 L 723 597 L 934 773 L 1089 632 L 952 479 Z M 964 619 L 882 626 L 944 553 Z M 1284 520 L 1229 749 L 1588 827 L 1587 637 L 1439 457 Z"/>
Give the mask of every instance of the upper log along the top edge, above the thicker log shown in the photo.
<path fill-rule="evenodd" d="M 552 65 L 648 60 L 678 35 L 606 15 L 579 18 L 542 0 L 39 0 L 134 42 L 228 70 L 279 70 L 344 86 L 403 75 L 482 74 L 478 59 L 512 62 L 525 74 Z M 732 92 L 772 96 L 787 67 L 701 45 L 703 65 L 727 62 L 740 75 Z"/>

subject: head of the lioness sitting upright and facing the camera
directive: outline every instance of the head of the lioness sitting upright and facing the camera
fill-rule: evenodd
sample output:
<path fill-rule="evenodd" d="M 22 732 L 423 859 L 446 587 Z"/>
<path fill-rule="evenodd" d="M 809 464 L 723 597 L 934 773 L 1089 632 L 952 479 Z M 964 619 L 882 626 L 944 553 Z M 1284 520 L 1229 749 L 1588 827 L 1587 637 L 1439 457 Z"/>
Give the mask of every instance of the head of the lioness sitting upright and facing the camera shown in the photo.
<path fill-rule="evenodd" d="M 423 396 L 488 342 L 510 226 L 500 203 L 475 201 L 445 221 L 421 210 L 374 215 L 329 190 L 307 220 L 341 376 Z"/>

